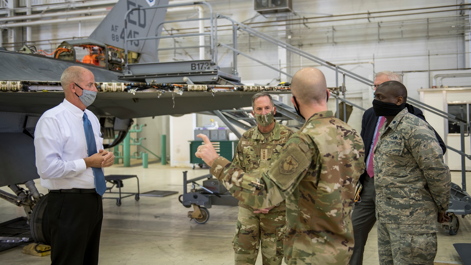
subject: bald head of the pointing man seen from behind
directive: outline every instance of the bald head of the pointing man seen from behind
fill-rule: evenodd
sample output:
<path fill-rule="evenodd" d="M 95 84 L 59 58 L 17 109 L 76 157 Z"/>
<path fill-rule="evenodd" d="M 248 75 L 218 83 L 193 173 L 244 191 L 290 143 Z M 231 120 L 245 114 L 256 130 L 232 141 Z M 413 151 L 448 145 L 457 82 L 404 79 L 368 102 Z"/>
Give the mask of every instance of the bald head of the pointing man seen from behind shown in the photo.
<path fill-rule="evenodd" d="M 325 104 L 326 90 L 325 76 L 317 68 L 302 68 L 292 77 L 291 92 L 301 104 Z"/>

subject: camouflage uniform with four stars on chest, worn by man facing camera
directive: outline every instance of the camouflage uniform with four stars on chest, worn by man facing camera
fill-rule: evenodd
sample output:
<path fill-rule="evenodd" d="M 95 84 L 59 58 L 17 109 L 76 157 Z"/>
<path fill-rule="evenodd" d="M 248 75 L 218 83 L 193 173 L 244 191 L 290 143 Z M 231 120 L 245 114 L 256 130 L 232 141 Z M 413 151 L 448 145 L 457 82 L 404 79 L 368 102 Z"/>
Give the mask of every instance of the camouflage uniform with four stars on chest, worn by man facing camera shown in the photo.
<path fill-rule="evenodd" d="M 258 175 L 267 173 L 286 141 L 294 133 L 275 121 L 267 138 L 258 126 L 244 132 L 235 150 L 232 165 L 244 172 Z M 252 207 L 239 201 L 239 214 L 232 245 L 235 265 L 253 265 L 261 247 L 263 265 L 278 265 L 283 260 L 283 237 L 286 229 L 286 205 L 279 203 L 268 214 L 255 214 Z M 261 244 L 260 244 L 261 241 Z"/>

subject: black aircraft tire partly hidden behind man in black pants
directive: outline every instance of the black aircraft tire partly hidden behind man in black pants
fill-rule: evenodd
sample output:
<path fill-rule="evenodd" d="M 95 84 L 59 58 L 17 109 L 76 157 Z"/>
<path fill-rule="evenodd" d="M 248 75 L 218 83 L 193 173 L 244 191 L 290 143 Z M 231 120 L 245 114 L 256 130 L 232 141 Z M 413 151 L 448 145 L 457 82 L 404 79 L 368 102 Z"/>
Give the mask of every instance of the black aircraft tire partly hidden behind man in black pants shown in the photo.
<path fill-rule="evenodd" d="M 31 214 L 31 234 L 36 243 L 45 245 L 51 244 L 48 225 L 48 197 L 49 194 L 42 196 L 34 206 Z"/>

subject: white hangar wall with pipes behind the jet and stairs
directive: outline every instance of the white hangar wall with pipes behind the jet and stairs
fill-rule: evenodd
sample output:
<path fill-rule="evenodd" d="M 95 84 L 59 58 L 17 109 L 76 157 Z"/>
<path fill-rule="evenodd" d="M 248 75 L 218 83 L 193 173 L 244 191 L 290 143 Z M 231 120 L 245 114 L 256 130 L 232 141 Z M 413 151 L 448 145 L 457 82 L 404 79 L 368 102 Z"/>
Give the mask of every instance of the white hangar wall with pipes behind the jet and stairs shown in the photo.
<path fill-rule="evenodd" d="M 9 7 L 21 6 L 23 2 L 15 1 L 15 4 Z M 173 0 L 170 3 L 181 2 L 184 1 Z M 293 0 L 293 10 L 298 16 L 276 17 L 258 15 L 253 10 L 253 0 L 208 0 L 208 2 L 213 7 L 214 13 L 249 24 L 257 30 L 369 79 L 373 79 L 374 73 L 382 70 L 397 72 L 403 75 L 403 83 L 408 88 L 410 98 L 419 99 L 417 90 L 429 88 L 434 75 L 471 73 L 470 16 L 457 16 L 469 14 L 470 10 L 466 9 L 466 6 L 446 7 L 470 3 L 471 0 Z M 402 11 L 375 13 L 386 10 Z M 370 14 L 362 15 L 365 12 Z M 351 15 L 345 16 L 347 14 Z M 207 10 L 205 15 L 209 16 Z M 168 12 L 166 20 L 197 16 L 197 10 Z M 299 17 L 306 19 L 293 20 Z M 80 31 L 78 22 L 35 25 L 32 26 L 32 44 L 37 49 L 54 50 L 65 39 L 89 36 L 98 24 L 99 21 L 82 21 Z M 218 24 L 229 25 L 228 21 L 223 19 L 220 19 Z M 209 26 L 207 21 L 205 26 Z M 198 31 L 194 22 L 165 24 L 164 27 L 164 32 L 167 34 Z M 229 29 L 221 27 L 223 28 Z M 220 31 L 218 41 L 232 42 L 231 34 L 231 30 Z M 287 73 L 294 74 L 305 66 L 318 66 L 298 55 L 286 53 L 267 41 L 261 41 L 243 32 L 238 35 L 240 50 Z M 25 27 L 2 30 L 2 40 L 2 46 L 9 50 L 18 50 L 26 40 Z M 198 45 L 197 42 L 197 37 L 187 37 L 184 40 L 169 38 L 161 41 L 161 47 L 192 45 L 192 43 Z M 219 47 L 218 53 L 219 66 L 230 67 L 232 53 L 222 47 Z M 159 53 L 161 61 L 198 57 L 198 49 Z M 209 51 L 206 49 L 206 58 L 208 57 Z M 327 85 L 335 86 L 335 73 L 322 66 L 319 68 L 326 76 Z M 242 82 L 246 84 L 276 84 L 279 81 L 289 81 L 289 78 L 280 76 L 276 71 L 258 65 L 241 55 L 238 56 L 238 73 L 242 77 Z M 469 80 L 469 77 L 446 79 L 444 85 L 470 85 Z M 346 80 L 346 87 L 347 99 L 364 108 L 371 107 L 373 95 L 369 87 L 351 79 Z M 283 100 L 289 103 L 289 96 L 283 97 Z M 329 107 L 335 108 L 334 100 L 330 100 Z M 360 130 L 361 116 L 362 112 L 355 109 L 349 121 L 349 124 L 357 130 Z M 222 124 L 219 118 L 214 117 L 214 119 Z M 161 135 L 163 133 L 168 135 L 171 131 L 169 120 L 169 116 L 137 119 L 138 124 L 148 124 L 143 132 L 138 133 L 138 137 L 146 137 L 146 145 L 151 146 L 157 155 L 160 155 Z M 197 115 L 196 126 L 207 124 L 207 120 L 208 117 Z M 167 139 L 167 149 L 170 149 L 169 138 Z"/>

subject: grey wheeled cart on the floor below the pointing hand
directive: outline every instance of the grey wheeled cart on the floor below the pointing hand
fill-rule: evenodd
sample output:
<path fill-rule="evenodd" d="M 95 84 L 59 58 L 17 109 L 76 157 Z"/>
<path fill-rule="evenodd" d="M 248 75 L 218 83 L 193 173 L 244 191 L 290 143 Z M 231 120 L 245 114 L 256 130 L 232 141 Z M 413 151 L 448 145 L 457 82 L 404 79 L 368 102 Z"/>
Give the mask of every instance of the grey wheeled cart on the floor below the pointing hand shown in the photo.
<path fill-rule="evenodd" d="M 190 221 L 195 219 L 198 224 L 206 223 L 209 220 L 208 208 L 213 205 L 237 206 L 239 204 L 239 200 L 232 197 L 226 187 L 213 178 L 212 174 L 188 180 L 187 172 L 183 172 L 183 194 L 179 196 L 179 201 L 187 208 L 193 207 L 193 211 L 188 212 Z M 203 185 L 196 183 L 199 180 L 203 180 Z M 187 192 L 188 183 L 192 184 L 190 192 Z"/>

